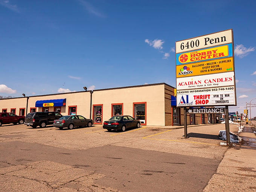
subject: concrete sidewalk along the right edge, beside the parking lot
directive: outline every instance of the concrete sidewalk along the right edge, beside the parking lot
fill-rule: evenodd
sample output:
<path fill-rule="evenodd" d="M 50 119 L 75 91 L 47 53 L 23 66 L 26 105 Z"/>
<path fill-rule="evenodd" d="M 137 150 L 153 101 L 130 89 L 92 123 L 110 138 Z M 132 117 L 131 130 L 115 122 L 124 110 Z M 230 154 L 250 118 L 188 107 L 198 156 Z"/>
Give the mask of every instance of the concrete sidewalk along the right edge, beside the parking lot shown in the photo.
<path fill-rule="evenodd" d="M 203 192 L 256 191 L 256 134 L 254 126 L 244 125 L 238 134 L 242 145 L 234 145 L 225 153 L 215 174 Z"/>

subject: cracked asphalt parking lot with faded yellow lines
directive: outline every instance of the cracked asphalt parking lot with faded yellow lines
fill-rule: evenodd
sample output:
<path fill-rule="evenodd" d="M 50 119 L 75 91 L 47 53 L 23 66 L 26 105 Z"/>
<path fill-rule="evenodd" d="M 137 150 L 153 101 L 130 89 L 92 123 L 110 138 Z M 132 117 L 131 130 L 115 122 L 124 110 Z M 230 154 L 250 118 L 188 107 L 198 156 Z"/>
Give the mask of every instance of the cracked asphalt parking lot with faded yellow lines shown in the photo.
<path fill-rule="evenodd" d="M 125 132 L 102 125 L 0 127 L 2 191 L 203 191 L 227 151 L 224 124 L 141 126 Z M 230 131 L 236 131 L 230 125 Z"/>

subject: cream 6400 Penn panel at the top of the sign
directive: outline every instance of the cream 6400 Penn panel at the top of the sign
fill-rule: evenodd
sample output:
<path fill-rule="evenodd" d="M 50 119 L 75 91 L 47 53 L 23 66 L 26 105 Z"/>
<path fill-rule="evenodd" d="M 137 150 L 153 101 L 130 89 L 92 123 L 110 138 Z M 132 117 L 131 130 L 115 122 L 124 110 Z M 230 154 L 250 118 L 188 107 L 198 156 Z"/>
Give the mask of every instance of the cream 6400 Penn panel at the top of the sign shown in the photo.
<path fill-rule="evenodd" d="M 232 43 L 232 29 L 176 42 L 176 53 Z"/>

